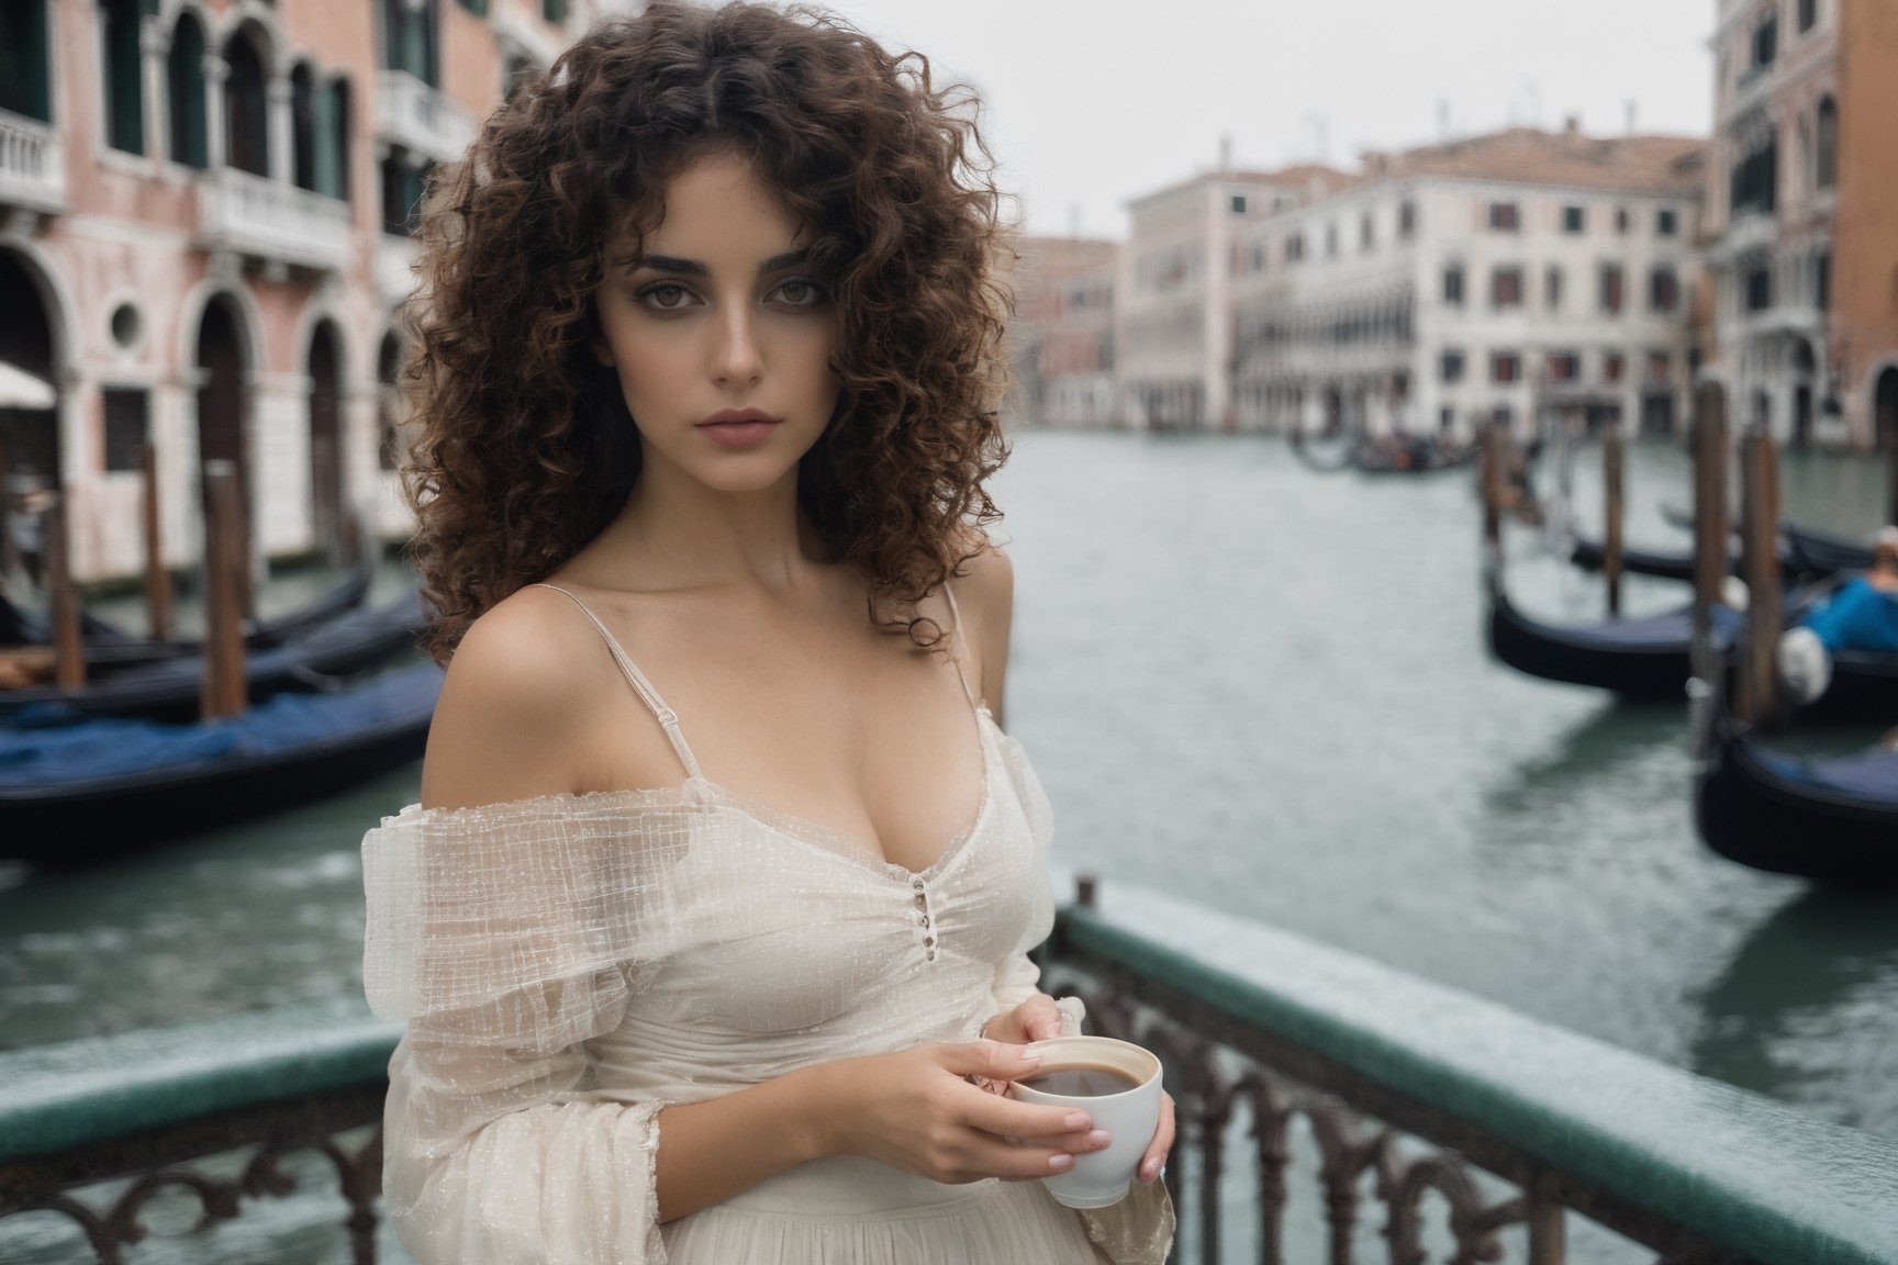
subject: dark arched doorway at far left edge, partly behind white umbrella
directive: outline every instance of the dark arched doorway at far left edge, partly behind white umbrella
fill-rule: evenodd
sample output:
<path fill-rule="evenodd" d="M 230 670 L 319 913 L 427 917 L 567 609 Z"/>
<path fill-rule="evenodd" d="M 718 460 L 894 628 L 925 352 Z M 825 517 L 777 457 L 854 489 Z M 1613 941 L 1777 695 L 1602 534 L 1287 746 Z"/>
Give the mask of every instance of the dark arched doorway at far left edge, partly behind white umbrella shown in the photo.
<path fill-rule="evenodd" d="M 0 250 L 0 364 L 44 383 L 53 381 L 53 322 L 28 264 Z M 44 580 L 40 518 L 28 508 L 36 491 L 59 487 L 59 410 L 25 402 L 0 404 L 0 578 L 13 561 L 34 584 Z"/>

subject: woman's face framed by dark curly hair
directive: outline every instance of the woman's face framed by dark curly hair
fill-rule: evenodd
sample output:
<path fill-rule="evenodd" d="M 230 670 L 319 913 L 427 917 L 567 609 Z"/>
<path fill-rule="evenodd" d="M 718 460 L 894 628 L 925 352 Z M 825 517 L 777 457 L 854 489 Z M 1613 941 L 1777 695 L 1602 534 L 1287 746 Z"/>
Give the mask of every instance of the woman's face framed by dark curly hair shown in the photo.
<path fill-rule="evenodd" d="M 839 391 L 837 311 L 803 237 L 750 163 L 716 154 L 674 176 L 645 241 L 607 241 L 594 353 L 619 376 L 643 478 L 795 480 Z"/>

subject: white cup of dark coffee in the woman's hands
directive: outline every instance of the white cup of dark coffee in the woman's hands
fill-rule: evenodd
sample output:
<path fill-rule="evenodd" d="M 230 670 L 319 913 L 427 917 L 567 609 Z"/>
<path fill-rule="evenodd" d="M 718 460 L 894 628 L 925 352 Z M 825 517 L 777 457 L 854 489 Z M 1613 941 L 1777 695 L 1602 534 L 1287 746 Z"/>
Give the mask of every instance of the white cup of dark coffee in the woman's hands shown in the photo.
<path fill-rule="evenodd" d="M 1042 1178 L 1042 1185 L 1055 1197 L 1055 1202 L 1069 1208 L 1107 1208 L 1127 1197 L 1146 1144 L 1154 1140 L 1160 1127 L 1160 1060 L 1152 1053 L 1116 1041 L 1112 1037 L 1051 1037 L 1031 1041 L 1025 1053 L 1038 1054 L 1042 1066 L 1008 1087 L 1008 1096 L 1021 1102 L 1034 1102 L 1050 1108 L 1069 1108 L 1086 1111 L 1095 1128 L 1112 1134 L 1112 1142 L 1101 1151 L 1086 1151 L 1074 1157 L 1074 1166 L 1051 1178 Z M 1048 1092 L 1031 1081 L 1061 1072 L 1093 1072 L 1112 1079 L 1126 1079 L 1133 1085 L 1110 1094 L 1101 1092 Z"/>

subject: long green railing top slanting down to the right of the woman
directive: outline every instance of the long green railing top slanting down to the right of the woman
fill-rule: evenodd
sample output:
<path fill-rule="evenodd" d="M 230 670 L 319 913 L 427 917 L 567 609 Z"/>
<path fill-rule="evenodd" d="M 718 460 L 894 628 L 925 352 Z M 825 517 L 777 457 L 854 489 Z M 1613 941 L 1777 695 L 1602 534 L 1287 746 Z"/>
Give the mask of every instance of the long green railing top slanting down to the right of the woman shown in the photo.
<path fill-rule="evenodd" d="M 1368 958 L 1103 884 L 1067 943 L 1761 1265 L 1898 1265 L 1898 1144 Z"/>

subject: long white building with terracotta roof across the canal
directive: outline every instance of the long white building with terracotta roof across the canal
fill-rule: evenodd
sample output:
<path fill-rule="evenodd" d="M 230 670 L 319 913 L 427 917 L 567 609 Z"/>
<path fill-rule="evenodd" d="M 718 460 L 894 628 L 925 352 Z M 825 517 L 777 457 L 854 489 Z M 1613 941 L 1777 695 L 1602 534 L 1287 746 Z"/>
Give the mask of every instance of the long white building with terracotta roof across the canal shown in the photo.
<path fill-rule="evenodd" d="M 1704 142 L 1570 121 L 1397 154 L 1237 228 L 1241 427 L 1672 431 L 1697 364 Z"/>

